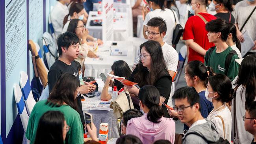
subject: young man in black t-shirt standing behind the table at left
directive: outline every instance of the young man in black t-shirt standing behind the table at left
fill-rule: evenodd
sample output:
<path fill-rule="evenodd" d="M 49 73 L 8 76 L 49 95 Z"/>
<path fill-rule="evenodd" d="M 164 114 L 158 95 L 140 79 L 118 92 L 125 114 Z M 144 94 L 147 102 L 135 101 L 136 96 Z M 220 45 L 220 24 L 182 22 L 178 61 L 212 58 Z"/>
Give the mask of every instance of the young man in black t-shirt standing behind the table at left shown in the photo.
<path fill-rule="evenodd" d="M 49 93 L 54 87 L 59 76 L 64 73 L 73 74 L 78 80 L 77 82 L 80 83 L 78 69 L 76 63 L 73 61 L 78 57 L 79 54 L 80 43 L 78 37 L 74 33 L 65 32 L 64 34 L 59 35 L 57 38 L 57 43 L 59 59 L 55 61 L 48 72 Z M 78 92 L 81 94 L 87 94 L 89 92 L 93 92 L 95 89 L 95 85 L 81 85 L 78 88 Z M 78 106 L 77 112 L 80 114 L 82 124 L 84 125 L 85 122 L 83 117 L 81 96 L 78 96 L 76 100 Z"/>

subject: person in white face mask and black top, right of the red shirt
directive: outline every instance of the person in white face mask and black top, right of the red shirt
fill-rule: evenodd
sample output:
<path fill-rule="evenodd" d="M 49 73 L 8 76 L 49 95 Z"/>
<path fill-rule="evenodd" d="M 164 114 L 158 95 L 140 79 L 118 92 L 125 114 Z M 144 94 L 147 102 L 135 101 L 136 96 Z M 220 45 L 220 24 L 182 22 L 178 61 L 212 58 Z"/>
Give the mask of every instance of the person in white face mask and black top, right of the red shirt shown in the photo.
<path fill-rule="evenodd" d="M 215 17 L 223 18 L 227 22 L 235 23 L 235 18 L 232 15 L 233 11 L 233 1 L 232 0 L 212 0 L 208 6 L 208 10 L 216 11 Z"/>

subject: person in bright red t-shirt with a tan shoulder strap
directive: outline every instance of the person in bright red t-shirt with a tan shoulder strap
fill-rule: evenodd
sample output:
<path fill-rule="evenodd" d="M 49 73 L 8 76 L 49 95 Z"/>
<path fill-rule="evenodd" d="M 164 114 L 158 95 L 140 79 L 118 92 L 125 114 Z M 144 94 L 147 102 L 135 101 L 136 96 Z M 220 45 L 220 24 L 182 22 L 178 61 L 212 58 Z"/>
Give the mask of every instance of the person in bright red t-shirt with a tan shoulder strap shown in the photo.
<path fill-rule="evenodd" d="M 188 62 L 198 60 L 204 63 L 206 51 L 214 46 L 208 41 L 205 25 L 216 17 L 207 13 L 206 5 L 207 0 L 191 0 L 189 11 L 194 16 L 187 20 L 183 33 L 183 40 L 186 40 L 186 45 L 189 47 Z"/>

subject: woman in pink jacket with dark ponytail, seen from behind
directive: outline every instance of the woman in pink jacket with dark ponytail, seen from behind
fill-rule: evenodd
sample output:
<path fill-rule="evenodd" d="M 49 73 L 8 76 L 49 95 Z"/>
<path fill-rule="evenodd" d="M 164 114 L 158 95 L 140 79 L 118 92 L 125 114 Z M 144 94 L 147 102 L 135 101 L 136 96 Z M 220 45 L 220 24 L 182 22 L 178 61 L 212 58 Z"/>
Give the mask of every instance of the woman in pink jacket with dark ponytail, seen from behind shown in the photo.
<path fill-rule="evenodd" d="M 175 123 L 171 118 L 163 117 L 160 106 L 160 93 L 156 87 L 145 85 L 139 90 L 139 105 L 143 116 L 128 121 L 126 135 L 135 135 L 143 144 L 152 144 L 165 139 L 174 144 Z"/>

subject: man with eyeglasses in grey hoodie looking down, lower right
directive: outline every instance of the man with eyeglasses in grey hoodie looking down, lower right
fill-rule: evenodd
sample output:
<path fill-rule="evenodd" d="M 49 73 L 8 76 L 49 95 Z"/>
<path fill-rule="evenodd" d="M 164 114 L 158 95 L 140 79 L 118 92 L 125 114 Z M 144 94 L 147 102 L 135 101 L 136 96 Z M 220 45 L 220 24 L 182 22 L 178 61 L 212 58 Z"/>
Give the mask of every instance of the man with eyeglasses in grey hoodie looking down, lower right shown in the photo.
<path fill-rule="evenodd" d="M 173 109 L 177 111 L 178 118 L 189 126 L 189 130 L 182 138 L 183 144 L 208 144 L 223 141 L 213 122 L 202 117 L 199 95 L 194 88 L 182 87 L 176 90 L 173 100 L 175 103 Z"/>

